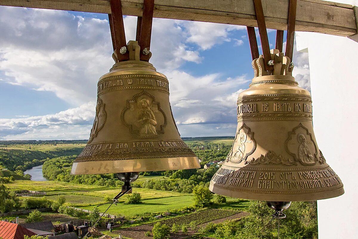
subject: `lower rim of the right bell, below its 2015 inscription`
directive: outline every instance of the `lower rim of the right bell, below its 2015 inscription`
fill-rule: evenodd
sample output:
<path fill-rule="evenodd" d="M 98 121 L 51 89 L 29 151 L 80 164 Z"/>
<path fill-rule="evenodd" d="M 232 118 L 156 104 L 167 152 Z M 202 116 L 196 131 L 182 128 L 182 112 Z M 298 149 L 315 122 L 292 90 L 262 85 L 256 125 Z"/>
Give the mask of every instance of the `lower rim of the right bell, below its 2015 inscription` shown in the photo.
<path fill-rule="evenodd" d="M 212 182 L 209 185 L 209 190 L 213 193 L 236 197 L 241 199 L 248 200 L 260 200 L 260 201 L 315 201 L 322 199 L 330 199 L 333 197 L 338 197 L 344 194 L 343 185 L 338 186 L 336 190 L 333 191 L 322 191 L 322 192 L 308 192 L 308 193 L 300 193 L 297 191 L 297 194 L 291 193 L 280 194 L 280 193 L 257 193 L 257 192 L 242 192 L 242 191 L 234 191 L 225 188 L 217 187 L 217 185 Z"/>

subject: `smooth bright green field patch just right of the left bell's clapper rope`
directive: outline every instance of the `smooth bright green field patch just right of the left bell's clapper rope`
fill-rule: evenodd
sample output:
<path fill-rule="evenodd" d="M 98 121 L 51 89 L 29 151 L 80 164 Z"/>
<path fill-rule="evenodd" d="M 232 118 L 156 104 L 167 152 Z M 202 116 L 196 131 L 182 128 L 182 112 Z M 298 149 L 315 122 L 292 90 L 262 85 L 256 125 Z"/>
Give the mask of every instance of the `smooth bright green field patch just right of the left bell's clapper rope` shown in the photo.
<path fill-rule="evenodd" d="M 176 197 L 163 197 L 159 199 L 147 199 L 142 200 L 141 204 L 118 204 L 113 205 L 107 213 L 116 216 L 126 216 L 127 218 L 142 215 L 146 213 L 155 213 L 170 211 L 173 209 L 181 209 L 185 206 L 190 206 L 193 204 L 192 195 L 185 196 L 176 196 Z M 98 207 L 100 211 L 105 211 L 108 205 L 103 205 Z M 93 206 L 83 206 L 79 207 L 87 210 L 92 210 Z"/>

